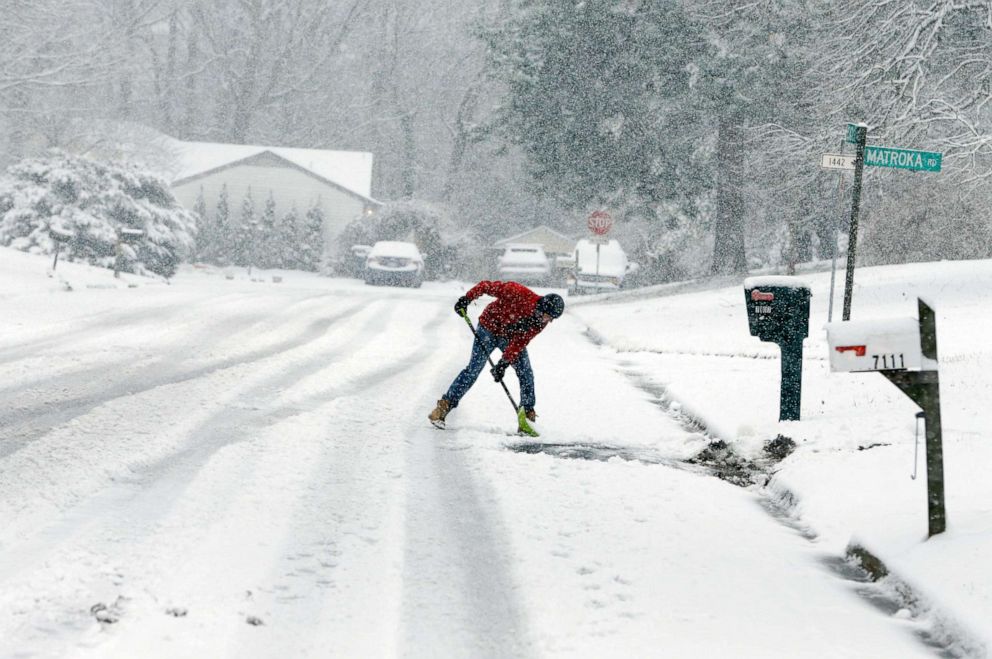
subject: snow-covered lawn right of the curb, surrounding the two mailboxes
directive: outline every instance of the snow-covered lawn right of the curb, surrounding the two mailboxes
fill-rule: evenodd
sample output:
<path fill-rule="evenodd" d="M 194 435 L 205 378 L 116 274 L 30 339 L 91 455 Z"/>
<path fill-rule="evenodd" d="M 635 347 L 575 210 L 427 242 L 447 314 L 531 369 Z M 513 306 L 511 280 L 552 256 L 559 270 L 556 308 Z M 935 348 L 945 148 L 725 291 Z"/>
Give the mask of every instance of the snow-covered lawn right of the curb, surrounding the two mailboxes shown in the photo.
<path fill-rule="evenodd" d="M 960 621 L 972 651 L 983 654 L 992 644 L 992 262 L 856 275 L 853 319 L 916 317 L 918 296 L 937 313 L 948 530 L 929 540 L 922 436 L 919 476 L 910 478 L 918 408 L 881 375 L 830 372 L 823 331 L 829 273 L 800 279 L 813 298 L 798 422 L 777 421 L 778 348 L 749 335 L 742 285 L 572 300 L 571 312 L 618 360 L 738 452 L 757 457 L 776 435 L 793 438 L 798 449 L 778 466 L 770 489 L 795 495 L 794 513 L 824 548 L 842 551 L 856 541 L 875 552 Z M 835 321 L 843 290 L 836 295 Z"/>

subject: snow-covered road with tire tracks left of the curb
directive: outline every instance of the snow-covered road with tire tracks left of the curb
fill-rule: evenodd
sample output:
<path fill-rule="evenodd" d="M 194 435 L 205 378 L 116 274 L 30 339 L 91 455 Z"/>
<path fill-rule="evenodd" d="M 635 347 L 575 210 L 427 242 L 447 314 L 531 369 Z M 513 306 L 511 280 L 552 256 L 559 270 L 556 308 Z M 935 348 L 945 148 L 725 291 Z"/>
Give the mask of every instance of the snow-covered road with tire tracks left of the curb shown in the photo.
<path fill-rule="evenodd" d="M 541 441 L 656 464 L 514 450 L 485 379 L 431 428 L 460 291 L 8 296 L 0 656 L 933 656 L 756 493 L 666 466 L 705 438 L 568 315 Z"/>

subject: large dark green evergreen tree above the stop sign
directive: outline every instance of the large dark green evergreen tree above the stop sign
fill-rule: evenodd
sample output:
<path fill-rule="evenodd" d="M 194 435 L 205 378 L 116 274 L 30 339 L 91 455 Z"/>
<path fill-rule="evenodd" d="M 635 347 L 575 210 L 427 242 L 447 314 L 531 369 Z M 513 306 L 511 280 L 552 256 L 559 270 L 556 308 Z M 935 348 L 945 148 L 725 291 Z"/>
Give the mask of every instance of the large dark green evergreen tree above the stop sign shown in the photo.
<path fill-rule="evenodd" d="M 700 28 L 677 2 L 536 0 L 487 36 L 508 89 L 493 129 L 524 149 L 543 191 L 649 212 L 698 194 L 702 129 L 684 99 Z"/>

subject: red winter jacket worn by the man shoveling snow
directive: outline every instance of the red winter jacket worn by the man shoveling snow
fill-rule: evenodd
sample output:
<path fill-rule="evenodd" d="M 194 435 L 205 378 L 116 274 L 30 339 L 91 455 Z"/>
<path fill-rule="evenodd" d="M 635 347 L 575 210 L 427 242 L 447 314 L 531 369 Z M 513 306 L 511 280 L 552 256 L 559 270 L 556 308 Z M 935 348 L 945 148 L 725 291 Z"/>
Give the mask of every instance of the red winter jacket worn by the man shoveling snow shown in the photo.
<path fill-rule="evenodd" d="M 509 340 L 503 359 L 512 364 L 530 340 L 544 329 L 528 322 L 533 319 L 541 296 L 515 281 L 480 281 L 465 294 L 470 300 L 483 295 L 490 295 L 496 301 L 486 305 L 479 316 L 479 325 Z"/>

